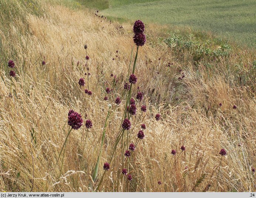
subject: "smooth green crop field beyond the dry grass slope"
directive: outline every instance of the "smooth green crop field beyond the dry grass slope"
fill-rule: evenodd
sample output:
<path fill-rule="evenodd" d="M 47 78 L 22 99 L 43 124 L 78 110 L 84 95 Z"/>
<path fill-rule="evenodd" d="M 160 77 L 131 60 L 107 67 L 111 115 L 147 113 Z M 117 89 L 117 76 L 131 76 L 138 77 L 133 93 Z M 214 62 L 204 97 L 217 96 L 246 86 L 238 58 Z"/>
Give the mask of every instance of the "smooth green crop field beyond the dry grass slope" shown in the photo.
<path fill-rule="evenodd" d="M 240 45 L 256 47 L 255 0 L 105 0 L 83 4 L 101 13 L 146 23 L 167 24 L 170 28 L 190 27 L 220 35 Z"/>

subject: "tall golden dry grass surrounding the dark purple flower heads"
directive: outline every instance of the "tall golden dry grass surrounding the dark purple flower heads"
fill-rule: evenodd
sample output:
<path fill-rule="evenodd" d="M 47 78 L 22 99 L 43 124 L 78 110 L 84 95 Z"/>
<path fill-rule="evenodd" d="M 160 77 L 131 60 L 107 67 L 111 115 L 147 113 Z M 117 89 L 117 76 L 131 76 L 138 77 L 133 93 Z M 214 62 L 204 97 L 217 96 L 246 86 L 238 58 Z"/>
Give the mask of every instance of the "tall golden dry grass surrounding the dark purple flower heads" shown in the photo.
<path fill-rule="evenodd" d="M 1 191 L 256 191 L 254 49 L 231 45 L 222 54 L 225 44 L 213 42 L 200 54 L 175 43 L 183 37 L 146 24 L 131 89 L 137 112 L 127 134 L 121 124 L 124 83 L 136 54 L 133 22 L 110 23 L 52 1 L 10 2 L 0 0 Z M 78 85 L 80 78 L 85 86 Z M 71 132 L 70 109 L 83 119 Z M 141 124 L 146 129 L 140 140 Z M 130 157 L 124 156 L 127 143 L 137 143 Z M 109 170 L 103 170 L 106 162 Z"/>

